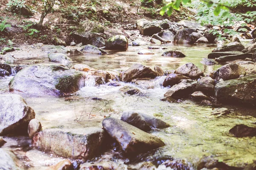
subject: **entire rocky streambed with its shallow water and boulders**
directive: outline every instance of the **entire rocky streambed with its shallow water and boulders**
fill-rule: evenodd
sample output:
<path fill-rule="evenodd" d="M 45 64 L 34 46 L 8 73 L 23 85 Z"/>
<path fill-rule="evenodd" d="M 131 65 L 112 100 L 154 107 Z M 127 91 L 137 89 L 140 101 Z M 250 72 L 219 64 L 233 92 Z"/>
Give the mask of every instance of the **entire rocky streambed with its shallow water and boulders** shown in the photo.
<path fill-rule="evenodd" d="M 6 57 L 12 63 L 0 64 L 10 74 L 0 78 L 0 167 L 253 167 L 253 61 L 239 64 L 241 53 L 220 48 L 210 54 L 211 44 L 107 46 L 80 53 L 35 45 Z M 239 60 L 210 60 L 232 55 Z"/>

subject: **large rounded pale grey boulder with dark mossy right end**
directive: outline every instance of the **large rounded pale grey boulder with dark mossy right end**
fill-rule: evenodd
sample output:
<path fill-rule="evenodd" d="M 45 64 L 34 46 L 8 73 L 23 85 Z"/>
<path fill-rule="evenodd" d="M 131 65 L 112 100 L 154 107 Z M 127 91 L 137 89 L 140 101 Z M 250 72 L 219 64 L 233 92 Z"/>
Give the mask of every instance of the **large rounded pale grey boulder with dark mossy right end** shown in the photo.
<path fill-rule="evenodd" d="M 71 94 L 84 86 L 85 76 L 61 65 L 38 64 L 19 71 L 9 82 L 9 90 L 36 95 Z"/>

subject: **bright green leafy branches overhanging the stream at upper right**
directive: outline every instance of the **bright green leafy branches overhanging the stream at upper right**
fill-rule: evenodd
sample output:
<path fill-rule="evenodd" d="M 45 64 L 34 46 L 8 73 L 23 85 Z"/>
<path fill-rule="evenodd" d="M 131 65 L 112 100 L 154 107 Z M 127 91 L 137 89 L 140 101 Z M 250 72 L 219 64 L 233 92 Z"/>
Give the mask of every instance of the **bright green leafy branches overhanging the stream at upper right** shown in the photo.
<path fill-rule="evenodd" d="M 180 6 L 186 4 L 196 6 L 198 14 L 196 19 L 201 25 L 212 24 L 215 26 L 223 26 L 224 33 L 236 34 L 235 31 L 228 29 L 229 26 L 235 25 L 236 21 L 245 21 L 252 23 L 256 20 L 256 11 L 239 11 L 238 7 L 256 8 L 256 0 L 175 0 L 164 6 L 160 14 L 163 15 L 167 12 L 168 15 L 172 14 L 173 10 L 180 10 Z M 216 32 L 216 31 L 215 31 Z M 217 33 L 215 33 L 217 34 Z"/>

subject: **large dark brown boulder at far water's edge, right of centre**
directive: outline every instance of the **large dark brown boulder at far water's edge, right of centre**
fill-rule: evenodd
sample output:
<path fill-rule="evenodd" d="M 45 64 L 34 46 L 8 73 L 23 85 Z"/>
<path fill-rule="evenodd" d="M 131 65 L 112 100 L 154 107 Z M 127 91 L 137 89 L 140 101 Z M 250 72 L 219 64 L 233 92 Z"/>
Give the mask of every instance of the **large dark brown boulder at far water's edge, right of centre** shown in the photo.
<path fill-rule="evenodd" d="M 174 37 L 174 43 L 177 44 L 193 44 L 195 42 L 194 37 L 191 35 L 196 30 L 191 28 L 183 28 L 177 31 Z"/>

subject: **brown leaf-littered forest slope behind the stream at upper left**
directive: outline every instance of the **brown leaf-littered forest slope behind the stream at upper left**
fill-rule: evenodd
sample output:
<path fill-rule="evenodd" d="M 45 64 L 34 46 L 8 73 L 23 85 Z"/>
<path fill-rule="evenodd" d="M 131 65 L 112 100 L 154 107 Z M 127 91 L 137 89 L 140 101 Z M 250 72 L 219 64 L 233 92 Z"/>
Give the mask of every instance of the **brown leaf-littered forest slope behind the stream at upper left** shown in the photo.
<path fill-rule="evenodd" d="M 0 49 L 8 44 L 8 40 L 12 40 L 14 46 L 19 46 L 39 42 L 51 44 L 52 37 L 58 37 L 69 44 L 73 40 L 71 34 L 74 30 L 70 29 L 71 26 L 79 28 L 87 26 L 87 23 L 101 24 L 105 30 L 124 32 L 129 25 L 129 29 L 136 28 L 136 20 L 142 18 L 147 20 L 167 18 L 172 22 L 177 22 L 191 19 L 194 15 L 193 12 L 182 7 L 180 11 L 174 11 L 171 17 L 167 14 L 161 16 L 159 11 L 164 6 L 163 4 L 154 3 L 154 7 L 148 8 L 142 6 L 140 0 L 68 2 L 70 1 L 56 3 L 52 13 L 45 17 L 42 30 L 32 31 L 31 29 L 36 29 L 36 23 L 40 20 L 43 9 L 41 1 L 26 0 L 25 5 L 29 6 L 33 12 L 32 17 L 26 17 L 12 13 L 8 8 L 7 1 L 0 0 L 0 21 L 6 19 L 7 24 L 12 26 L 7 28 L 7 31 L 0 32 Z"/>

